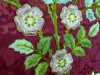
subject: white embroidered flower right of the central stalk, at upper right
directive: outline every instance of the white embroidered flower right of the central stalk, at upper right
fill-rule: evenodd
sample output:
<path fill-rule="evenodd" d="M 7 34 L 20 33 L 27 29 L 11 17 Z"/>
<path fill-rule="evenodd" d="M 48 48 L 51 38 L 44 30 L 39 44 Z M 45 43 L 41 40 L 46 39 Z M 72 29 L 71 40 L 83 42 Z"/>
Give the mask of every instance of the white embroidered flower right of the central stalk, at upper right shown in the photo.
<path fill-rule="evenodd" d="M 76 5 L 69 5 L 68 7 L 62 8 L 60 18 L 67 29 L 74 30 L 80 26 L 80 21 L 82 21 L 82 13 Z"/>

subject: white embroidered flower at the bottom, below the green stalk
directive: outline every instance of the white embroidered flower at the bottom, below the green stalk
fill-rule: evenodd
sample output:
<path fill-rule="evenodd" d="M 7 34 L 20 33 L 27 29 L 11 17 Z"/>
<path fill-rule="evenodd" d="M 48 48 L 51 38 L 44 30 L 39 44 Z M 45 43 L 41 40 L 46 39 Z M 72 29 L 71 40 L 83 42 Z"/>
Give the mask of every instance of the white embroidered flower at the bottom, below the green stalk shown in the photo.
<path fill-rule="evenodd" d="M 60 75 L 68 72 L 72 66 L 73 58 L 70 53 L 67 53 L 65 49 L 57 51 L 51 59 L 50 67 L 53 72 L 59 73 Z"/>

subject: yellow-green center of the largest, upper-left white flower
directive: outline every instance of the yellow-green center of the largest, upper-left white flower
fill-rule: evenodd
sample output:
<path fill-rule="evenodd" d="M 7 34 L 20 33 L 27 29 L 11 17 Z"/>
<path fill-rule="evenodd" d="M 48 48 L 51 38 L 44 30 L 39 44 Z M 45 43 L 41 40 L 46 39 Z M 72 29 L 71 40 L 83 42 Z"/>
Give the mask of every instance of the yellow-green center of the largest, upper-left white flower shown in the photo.
<path fill-rule="evenodd" d="M 36 23 L 36 18 L 32 16 L 32 13 L 29 13 L 24 17 L 24 21 L 28 27 L 33 27 Z"/>

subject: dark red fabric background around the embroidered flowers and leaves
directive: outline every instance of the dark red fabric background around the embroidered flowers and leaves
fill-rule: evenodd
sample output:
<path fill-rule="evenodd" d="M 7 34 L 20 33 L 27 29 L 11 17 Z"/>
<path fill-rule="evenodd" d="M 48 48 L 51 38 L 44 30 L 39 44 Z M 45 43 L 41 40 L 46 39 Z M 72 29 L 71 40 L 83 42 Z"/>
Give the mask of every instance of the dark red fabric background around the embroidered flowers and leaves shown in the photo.
<path fill-rule="evenodd" d="M 46 20 L 45 26 L 43 28 L 43 32 L 45 36 L 53 34 L 53 27 L 50 21 L 50 17 L 47 13 L 46 5 L 42 2 L 42 0 L 20 0 L 21 4 L 29 3 L 32 6 L 39 7 L 44 12 L 44 18 Z M 84 7 L 84 0 L 79 0 L 78 6 L 79 8 Z M 58 15 L 61 12 L 61 5 L 58 5 Z M 14 52 L 12 49 L 9 49 L 8 46 L 14 42 L 16 39 L 27 39 L 36 45 L 39 38 L 38 37 L 27 37 L 19 33 L 16 29 L 15 23 L 13 21 L 14 16 L 16 15 L 15 7 L 11 5 L 7 5 L 6 3 L 0 3 L 0 75 L 35 75 L 34 70 L 25 70 L 24 68 L 24 60 L 25 55 L 21 55 L 19 53 Z M 83 13 L 84 20 L 81 22 L 84 25 L 87 32 L 92 24 L 96 21 L 89 22 L 85 18 L 85 14 Z M 99 19 L 98 19 L 99 20 Z M 64 26 L 58 21 L 59 25 L 59 34 L 63 35 Z M 73 35 L 76 34 L 76 31 L 72 31 Z M 86 49 L 86 56 L 79 58 L 73 57 L 74 63 L 73 68 L 71 70 L 71 75 L 91 75 L 92 71 L 100 72 L 100 32 L 94 38 L 91 38 L 93 43 L 93 47 L 91 49 Z M 55 50 L 55 43 L 52 40 L 51 48 Z M 61 38 L 60 44 L 61 47 L 63 43 L 63 39 Z M 50 71 L 46 73 L 46 75 L 53 75 Z"/>

